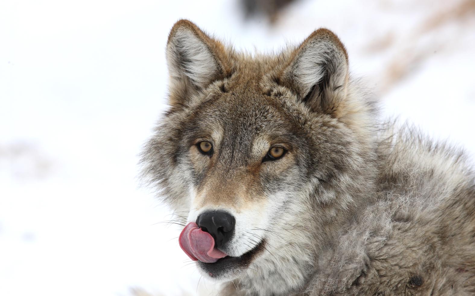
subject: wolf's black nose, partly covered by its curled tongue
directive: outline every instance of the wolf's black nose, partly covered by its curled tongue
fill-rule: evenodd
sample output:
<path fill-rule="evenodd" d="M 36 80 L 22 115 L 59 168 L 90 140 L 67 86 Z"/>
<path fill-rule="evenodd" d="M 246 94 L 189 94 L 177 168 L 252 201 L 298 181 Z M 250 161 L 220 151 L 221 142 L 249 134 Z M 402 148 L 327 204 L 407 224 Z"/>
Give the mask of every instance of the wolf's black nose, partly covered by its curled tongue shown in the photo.
<path fill-rule="evenodd" d="M 215 247 L 219 248 L 229 242 L 233 236 L 236 219 L 224 211 L 208 211 L 198 216 L 196 224 L 203 231 L 211 234 Z"/>

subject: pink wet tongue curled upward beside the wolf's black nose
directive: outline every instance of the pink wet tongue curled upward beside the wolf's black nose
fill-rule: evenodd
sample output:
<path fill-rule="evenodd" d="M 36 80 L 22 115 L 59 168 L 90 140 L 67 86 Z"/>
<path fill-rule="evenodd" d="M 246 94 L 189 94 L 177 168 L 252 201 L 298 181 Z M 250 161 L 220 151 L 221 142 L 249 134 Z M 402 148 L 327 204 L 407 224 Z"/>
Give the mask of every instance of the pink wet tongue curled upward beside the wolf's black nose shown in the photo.
<path fill-rule="evenodd" d="M 214 263 L 227 255 L 214 247 L 211 234 L 202 231 L 194 222 L 188 223 L 180 233 L 181 249 L 191 260 L 205 263 Z"/>

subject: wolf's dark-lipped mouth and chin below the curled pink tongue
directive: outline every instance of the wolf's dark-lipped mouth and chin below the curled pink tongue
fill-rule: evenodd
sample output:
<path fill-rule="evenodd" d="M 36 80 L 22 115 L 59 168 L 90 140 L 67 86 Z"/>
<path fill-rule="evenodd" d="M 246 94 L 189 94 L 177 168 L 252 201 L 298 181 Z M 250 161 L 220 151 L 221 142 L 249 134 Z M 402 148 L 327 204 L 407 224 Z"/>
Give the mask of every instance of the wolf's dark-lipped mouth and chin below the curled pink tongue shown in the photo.
<path fill-rule="evenodd" d="M 246 269 L 249 264 L 266 249 L 266 240 L 260 241 L 253 249 L 247 251 L 239 257 L 226 256 L 218 259 L 214 263 L 197 261 L 198 265 L 211 278 L 220 278 L 224 274 L 236 274 L 240 270 Z"/>

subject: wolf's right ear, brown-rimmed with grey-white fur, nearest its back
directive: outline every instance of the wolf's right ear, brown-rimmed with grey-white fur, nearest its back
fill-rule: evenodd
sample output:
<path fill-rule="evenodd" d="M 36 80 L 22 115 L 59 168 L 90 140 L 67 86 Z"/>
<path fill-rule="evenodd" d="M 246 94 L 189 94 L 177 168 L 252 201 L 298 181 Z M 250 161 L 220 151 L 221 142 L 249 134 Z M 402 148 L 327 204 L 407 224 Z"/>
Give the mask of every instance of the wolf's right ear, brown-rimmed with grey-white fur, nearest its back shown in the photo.
<path fill-rule="evenodd" d="M 280 80 L 312 110 L 338 117 L 348 84 L 348 55 L 342 42 L 328 29 L 314 31 L 293 52 Z"/>

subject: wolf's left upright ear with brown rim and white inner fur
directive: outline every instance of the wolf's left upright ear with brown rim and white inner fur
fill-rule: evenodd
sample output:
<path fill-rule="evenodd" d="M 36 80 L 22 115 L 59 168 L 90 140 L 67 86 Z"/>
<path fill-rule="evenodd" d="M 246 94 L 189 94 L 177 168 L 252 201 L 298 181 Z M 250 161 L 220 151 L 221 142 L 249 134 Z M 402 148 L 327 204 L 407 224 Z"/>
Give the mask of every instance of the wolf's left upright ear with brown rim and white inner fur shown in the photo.
<path fill-rule="evenodd" d="M 172 107 L 187 105 L 193 94 L 228 72 L 224 46 L 186 19 L 171 28 L 166 55 Z"/>

